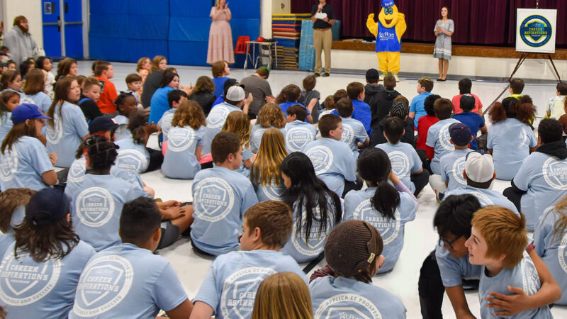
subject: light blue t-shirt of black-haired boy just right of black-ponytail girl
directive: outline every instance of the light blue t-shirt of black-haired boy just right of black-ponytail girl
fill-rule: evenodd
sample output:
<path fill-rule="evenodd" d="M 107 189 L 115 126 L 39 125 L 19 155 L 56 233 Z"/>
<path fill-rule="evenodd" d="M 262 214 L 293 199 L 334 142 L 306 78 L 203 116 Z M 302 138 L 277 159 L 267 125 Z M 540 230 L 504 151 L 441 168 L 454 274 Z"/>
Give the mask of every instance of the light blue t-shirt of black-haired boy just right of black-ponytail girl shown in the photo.
<path fill-rule="evenodd" d="M 387 142 L 376 145 L 376 148 L 388 154 L 395 176 L 413 193 L 415 185 L 411 180 L 411 173 L 420 172 L 420 169 L 422 169 L 422 162 L 417 152 L 415 152 L 415 148 L 404 142 L 395 144 Z"/>

